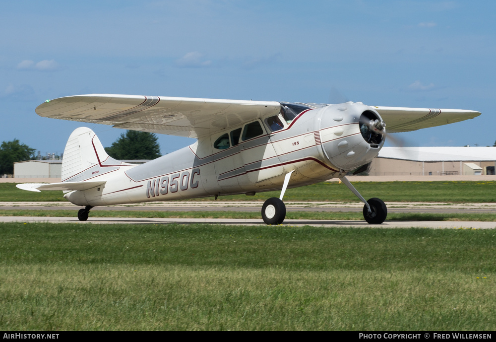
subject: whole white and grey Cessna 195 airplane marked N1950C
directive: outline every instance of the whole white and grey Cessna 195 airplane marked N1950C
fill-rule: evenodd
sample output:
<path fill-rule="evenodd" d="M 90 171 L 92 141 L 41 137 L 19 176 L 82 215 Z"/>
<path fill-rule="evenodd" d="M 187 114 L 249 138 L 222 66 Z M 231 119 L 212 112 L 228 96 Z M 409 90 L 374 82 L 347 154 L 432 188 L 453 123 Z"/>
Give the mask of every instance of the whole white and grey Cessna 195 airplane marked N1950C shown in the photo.
<path fill-rule="evenodd" d="M 366 201 L 345 175 L 375 158 L 388 133 L 473 119 L 481 113 L 342 104 L 287 103 L 201 98 L 91 94 L 47 100 L 42 117 L 112 125 L 126 130 L 197 138 L 190 146 L 142 165 L 110 157 L 89 128 L 70 135 L 62 159 L 62 182 L 19 184 L 37 191 L 63 190 L 77 217 L 98 205 L 170 201 L 280 190 L 262 206 L 267 224 L 286 215 L 287 188 L 330 178 L 364 202 L 364 217 L 380 224 L 387 208 Z M 330 194 L 330 196 L 332 196 Z"/>

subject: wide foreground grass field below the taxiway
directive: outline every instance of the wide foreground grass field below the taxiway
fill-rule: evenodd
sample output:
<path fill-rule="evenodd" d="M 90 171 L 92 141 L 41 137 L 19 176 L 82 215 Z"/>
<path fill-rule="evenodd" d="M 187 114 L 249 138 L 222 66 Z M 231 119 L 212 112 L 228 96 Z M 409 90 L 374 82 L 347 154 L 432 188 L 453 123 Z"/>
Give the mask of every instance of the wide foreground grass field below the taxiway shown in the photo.
<path fill-rule="evenodd" d="M 495 230 L 0 224 L 0 330 L 496 329 Z"/>

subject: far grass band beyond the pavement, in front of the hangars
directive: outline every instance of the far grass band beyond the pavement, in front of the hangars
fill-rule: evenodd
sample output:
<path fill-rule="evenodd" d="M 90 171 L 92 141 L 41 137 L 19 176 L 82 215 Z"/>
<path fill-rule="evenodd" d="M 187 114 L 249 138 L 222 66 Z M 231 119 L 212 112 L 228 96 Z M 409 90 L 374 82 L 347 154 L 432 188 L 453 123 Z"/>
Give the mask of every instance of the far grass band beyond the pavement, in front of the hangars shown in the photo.
<path fill-rule="evenodd" d="M 496 202 L 496 181 L 484 182 L 354 182 L 361 194 L 369 199 L 377 197 L 384 202 Z M 219 201 L 265 201 L 279 197 L 280 192 L 258 193 L 255 196 L 221 196 Z M 0 202 L 65 201 L 62 192 L 42 191 L 34 193 L 15 188 L 14 183 L 0 183 Z M 213 198 L 190 201 L 213 201 Z M 318 183 L 288 189 L 284 201 L 344 201 L 359 200 L 338 182 Z"/>

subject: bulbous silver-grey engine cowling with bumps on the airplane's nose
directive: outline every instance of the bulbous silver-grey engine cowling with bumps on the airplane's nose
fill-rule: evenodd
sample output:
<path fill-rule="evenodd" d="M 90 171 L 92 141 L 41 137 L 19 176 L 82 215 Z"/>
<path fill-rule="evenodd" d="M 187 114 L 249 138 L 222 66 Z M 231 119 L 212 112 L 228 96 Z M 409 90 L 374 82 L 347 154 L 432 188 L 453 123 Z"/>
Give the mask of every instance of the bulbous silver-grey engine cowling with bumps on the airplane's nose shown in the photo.
<path fill-rule="evenodd" d="M 370 106 L 347 102 L 321 108 L 319 114 L 322 152 L 340 170 L 370 163 L 384 145 L 386 125 Z"/>

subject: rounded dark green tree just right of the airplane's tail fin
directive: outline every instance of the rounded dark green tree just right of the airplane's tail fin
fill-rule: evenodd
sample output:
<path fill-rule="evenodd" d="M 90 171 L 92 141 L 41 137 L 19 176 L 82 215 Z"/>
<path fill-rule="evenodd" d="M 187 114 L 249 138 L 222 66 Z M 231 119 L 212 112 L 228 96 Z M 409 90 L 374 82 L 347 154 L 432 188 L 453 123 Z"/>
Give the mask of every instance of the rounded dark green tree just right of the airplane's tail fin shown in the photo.
<path fill-rule="evenodd" d="M 105 151 L 113 158 L 155 159 L 161 156 L 157 136 L 153 133 L 126 131 Z"/>

